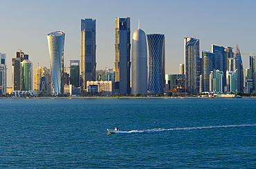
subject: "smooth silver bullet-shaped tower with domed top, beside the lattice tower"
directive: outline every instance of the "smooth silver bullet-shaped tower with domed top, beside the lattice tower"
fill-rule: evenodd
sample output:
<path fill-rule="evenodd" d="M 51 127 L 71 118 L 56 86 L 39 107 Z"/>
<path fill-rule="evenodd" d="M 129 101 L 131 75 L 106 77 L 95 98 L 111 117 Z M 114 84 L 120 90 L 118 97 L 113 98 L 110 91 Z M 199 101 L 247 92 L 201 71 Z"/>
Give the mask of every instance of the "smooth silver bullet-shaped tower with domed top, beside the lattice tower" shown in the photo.
<path fill-rule="evenodd" d="M 131 93 L 147 93 L 147 39 L 140 28 L 134 31 L 132 37 Z"/>

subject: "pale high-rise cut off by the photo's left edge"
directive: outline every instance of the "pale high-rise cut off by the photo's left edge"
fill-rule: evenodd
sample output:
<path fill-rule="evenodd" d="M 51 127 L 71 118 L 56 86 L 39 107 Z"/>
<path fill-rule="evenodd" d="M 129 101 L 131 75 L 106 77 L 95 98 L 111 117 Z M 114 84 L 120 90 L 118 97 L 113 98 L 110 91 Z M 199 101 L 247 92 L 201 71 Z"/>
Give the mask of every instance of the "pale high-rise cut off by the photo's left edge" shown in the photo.
<path fill-rule="evenodd" d="M 0 59 L 0 95 L 4 95 L 7 88 L 6 54 L 0 52 Z"/>

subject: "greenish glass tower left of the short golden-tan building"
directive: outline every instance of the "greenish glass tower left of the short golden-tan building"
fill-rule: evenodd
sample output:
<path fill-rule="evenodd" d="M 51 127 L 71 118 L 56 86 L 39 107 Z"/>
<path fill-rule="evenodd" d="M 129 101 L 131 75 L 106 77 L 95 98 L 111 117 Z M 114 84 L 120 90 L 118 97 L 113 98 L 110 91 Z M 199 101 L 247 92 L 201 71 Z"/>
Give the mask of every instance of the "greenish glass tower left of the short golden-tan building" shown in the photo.
<path fill-rule="evenodd" d="M 21 90 L 33 90 L 32 63 L 25 59 L 21 62 Z"/>

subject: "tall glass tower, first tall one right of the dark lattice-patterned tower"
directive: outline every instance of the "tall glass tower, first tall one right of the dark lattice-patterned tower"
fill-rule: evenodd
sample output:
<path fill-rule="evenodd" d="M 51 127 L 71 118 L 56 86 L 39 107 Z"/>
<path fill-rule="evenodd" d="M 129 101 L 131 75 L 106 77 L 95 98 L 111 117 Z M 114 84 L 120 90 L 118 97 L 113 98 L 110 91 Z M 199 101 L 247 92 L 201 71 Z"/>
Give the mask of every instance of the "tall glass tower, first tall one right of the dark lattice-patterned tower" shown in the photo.
<path fill-rule="evenodd" d="M 184 62 L 185 90 L 188 93 L 195 94 L 199 92 L 199 76 L 201 74 L 199 39 L 184 38 Z"/>

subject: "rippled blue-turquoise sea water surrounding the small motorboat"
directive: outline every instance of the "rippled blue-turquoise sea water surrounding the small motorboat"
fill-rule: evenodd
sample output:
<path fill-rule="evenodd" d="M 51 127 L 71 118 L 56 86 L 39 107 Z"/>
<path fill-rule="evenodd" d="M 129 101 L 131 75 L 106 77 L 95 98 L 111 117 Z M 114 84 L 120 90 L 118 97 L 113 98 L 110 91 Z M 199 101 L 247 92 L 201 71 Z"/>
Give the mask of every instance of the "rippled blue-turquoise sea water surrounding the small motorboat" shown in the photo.
<path fill-rule="evenodd" d="M 256 99 L 0 99 L 0 168 L 255 168 Z M 118 127 L 124 134 L 107 134 Z"/>

